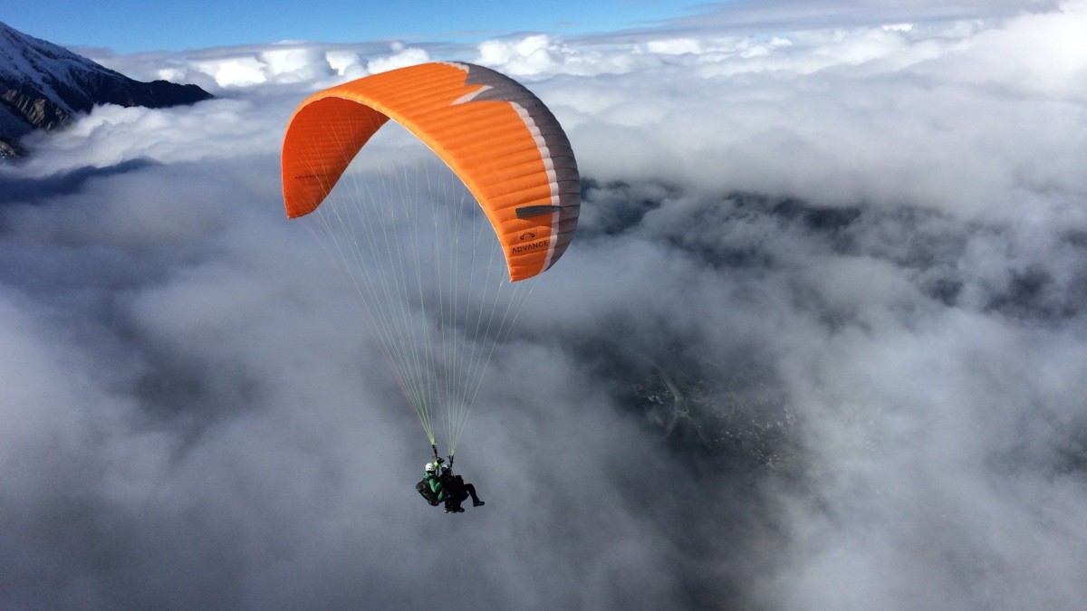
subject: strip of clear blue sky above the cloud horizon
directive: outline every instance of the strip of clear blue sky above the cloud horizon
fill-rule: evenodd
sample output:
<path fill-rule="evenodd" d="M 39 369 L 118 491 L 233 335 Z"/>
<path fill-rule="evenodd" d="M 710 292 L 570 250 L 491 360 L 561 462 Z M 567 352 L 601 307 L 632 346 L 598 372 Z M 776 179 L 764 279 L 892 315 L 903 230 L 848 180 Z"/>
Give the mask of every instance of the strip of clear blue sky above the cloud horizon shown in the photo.
<path fill-rule="evenodd" d="M 30 36 L 70 47 L 121 53 L 216 46 L 383 38 L 474 40 L 517 32 L 586 34 L 640 27 L 690 14 L 689 0 L 434 0 L 365 2 L 223 2 L 221 0 L 97 0 L 37 4 L 0 0 L 0 21 Z M 409 8 L 410 7 L 410 8 Z"/>

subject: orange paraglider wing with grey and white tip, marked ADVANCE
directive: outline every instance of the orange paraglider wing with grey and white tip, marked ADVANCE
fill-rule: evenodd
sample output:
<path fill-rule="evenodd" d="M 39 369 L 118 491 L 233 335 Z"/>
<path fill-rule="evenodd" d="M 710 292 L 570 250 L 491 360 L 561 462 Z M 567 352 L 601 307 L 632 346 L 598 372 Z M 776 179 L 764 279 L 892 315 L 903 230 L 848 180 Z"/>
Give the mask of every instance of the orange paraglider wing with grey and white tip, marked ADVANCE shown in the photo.
<path fill-rule="evenodd" d="M 426 142 L 472 191 L 502 245 L 511 280 L 559 260 L 580 209 L 570 141 L 530 91 L 466 63 L 393 70 L 303 101 L 283 146 L 287 216 L 315 210 L 389 119 Z"/>

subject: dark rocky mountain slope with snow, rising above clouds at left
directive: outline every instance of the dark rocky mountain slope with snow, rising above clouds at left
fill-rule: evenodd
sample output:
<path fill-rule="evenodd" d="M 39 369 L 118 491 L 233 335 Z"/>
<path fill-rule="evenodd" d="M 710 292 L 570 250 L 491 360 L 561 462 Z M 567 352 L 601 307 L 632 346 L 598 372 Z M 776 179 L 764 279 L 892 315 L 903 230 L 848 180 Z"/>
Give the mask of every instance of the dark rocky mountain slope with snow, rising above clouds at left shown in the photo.
<path fill-rule="evenodd" d="M 140 83 L 0 22 L 0 157 L 21 154 L 18 138 L 54 129 L 95 105 L 164 108 L 213 96 L 196 85 Z"/>

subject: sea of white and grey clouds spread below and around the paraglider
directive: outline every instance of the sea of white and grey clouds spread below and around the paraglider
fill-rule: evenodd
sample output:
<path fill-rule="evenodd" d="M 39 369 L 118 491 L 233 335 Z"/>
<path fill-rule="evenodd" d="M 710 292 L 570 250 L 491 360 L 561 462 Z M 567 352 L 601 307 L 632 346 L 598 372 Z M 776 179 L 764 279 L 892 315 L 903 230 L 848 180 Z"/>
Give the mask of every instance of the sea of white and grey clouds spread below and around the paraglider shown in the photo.
<path fill-rule="evenodd" d="M 1087 608 L 1087 3 L 772 5 L 93 57 L 218 99 L 0 166 L 2 606 Z M 457 516 L 278 160 L 310 92 L 443 59 L 525 83 L 584 178 Z"/>

